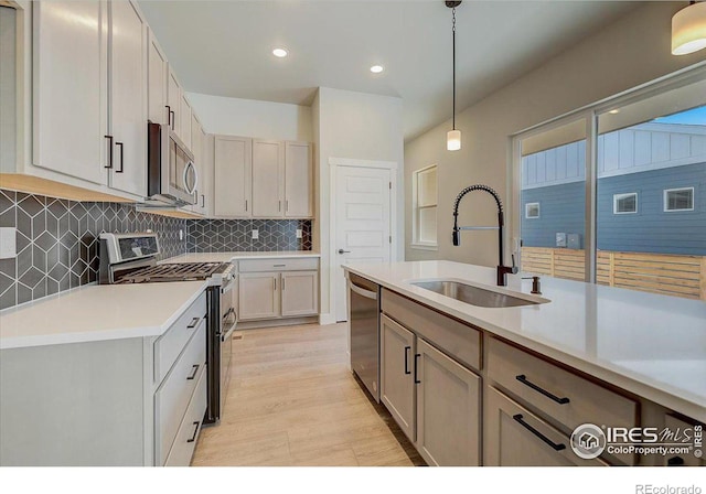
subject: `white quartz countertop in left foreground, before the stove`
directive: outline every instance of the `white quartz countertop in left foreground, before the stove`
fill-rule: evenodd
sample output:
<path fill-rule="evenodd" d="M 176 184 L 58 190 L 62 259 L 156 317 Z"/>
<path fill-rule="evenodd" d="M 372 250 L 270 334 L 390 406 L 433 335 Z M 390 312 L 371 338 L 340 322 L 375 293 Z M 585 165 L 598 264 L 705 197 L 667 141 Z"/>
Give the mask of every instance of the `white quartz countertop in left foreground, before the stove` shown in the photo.
<path fill-rule="evenodd" d="M 0 312 L 0 350 L 159 336 L 205 281 L 88 284 Z"/>

